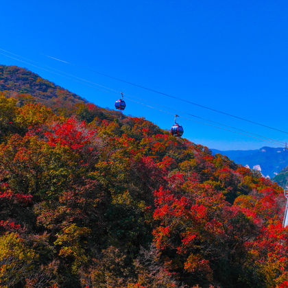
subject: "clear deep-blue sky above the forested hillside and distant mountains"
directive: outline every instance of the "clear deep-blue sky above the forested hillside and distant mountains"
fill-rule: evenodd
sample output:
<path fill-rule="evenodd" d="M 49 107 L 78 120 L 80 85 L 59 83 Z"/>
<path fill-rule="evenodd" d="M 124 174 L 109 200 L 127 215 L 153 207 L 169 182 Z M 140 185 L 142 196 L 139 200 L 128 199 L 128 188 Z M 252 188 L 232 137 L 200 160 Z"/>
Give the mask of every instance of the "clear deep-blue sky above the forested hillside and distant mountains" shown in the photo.
<path fill-rule="evenodd" d="M 33 66 L 0 54 L 0 64 L 26 67 L 104 108 L 114 108 L 119 96 L 51 73 L 45 66 L 123 91 L 134 101 L 158 109 L 126 99 L 126 115 L 145 117 L 163 129 L 173 124 L 175 109 L 184 127 L 183 136 L 211 148 L 281 145 L 196 123 L 185 113 L 288 142 L 288 134 L 91 71 L 286 131 L 287 1 L 14 0 L 1 1 L 0 9 L 0 48 L 37 62 Z"/>

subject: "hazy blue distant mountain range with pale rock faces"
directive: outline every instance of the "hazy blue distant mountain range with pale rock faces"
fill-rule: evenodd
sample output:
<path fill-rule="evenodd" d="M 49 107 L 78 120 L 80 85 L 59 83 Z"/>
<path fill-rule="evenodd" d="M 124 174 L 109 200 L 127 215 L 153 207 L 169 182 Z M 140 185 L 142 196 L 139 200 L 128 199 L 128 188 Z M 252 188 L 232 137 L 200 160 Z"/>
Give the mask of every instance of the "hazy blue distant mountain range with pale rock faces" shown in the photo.
<path fill-rule="evenodd" d="M 213 155 L 222 154 L 243 166 L 259 170 L 263 176 L 274 178 L 281 170 L 288 166 L 288 150 L 284 148 L 262 147 L 255 150 L 211 149 Z"/>

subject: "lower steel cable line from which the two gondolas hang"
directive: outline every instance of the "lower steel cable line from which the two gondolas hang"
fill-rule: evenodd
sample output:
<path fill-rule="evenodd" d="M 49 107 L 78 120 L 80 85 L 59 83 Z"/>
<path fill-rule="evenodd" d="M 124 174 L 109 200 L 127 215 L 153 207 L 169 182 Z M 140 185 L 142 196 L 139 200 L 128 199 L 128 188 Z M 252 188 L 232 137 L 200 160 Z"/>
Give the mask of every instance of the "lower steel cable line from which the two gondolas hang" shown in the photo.
<path fill-rule="evenodd" d="M 3 49 L 0 49 L 0 50 L 3 50 Z M 8 52 L 8 53 L 10 53 L 10 52 Z M 21 59 L 12 57 L 12 56 L 8 56 L 8 55 L 6 55 L 5 53 L 1 53 L 1 52 L 0 52 L 0 54 L 3 55 L 3 56 L 6 56 L 6 57 L 8 57 L 8 58 L 12 58 L 12 59 L 14 59 L 14 60 L 18 60 L 18 61 L 23 62 L 23 63 L 25 63 L 25 64 L 32 65 L 32 66 L 34 66 L 34 67 L 36 67 L 36 68 L 38 68 L 38 69 L 42 69 L 42 70 L 48 71 L 49 73 L 53 73 L 53 74 L 56 74 L 56 75 L 59 75 L 59 76 L 62 76 L 62 77 L 66 77 L 65 75 L 68 75 L 69 77 L 66 77 L 66 78 L 69 79 L 69 80 L 72 80 L 72 81 L 75 81 L 75 82 L 78 82 L 78 83 L 85 82 L 85 83 L 82 83 L 82 84 L 86 84 L 86 85 L 88 85 L 88 86 L 91 86 L 91 87 L 94 87 L 94 88 L 97 88 L 97 89 L 99 89 L 99 87 L 100 87 L 99 90 L 104 91 L 104 92 L 106 92 L 106 93 L 107 93 L 108 91 L 110 91 L 110 93 L 112 92 L 112 94 L 114 94 L 114 93 L 119 94 L 119 91 L 117 91 L 117 90 L 115 90 L 115 89 L 113 89 L 113 88 L 110 88 L 110 87 L 107 87 L 107 86 L 98 84 L 98 83 L 96 83 L 96 82 L 88 81 L 88 80 L 86 80 L 86 79 L 84 79 L 84 78 L 77 77 L 77 76 L 72 75 L 72 74 L 69 74 L 69 73 L 65 73 L 64 71 L 60 71 L 60 70 L 58 70 L 58 69 L 54 69 L 53 67 L 49 67 L 49 66 L 44 65 L 45 67 L 47 67 L 47 68 L 49 68 L 49 69 L 53 69 L 53 70 L 55 70 L 55 71 L 58 71 L 59 73 L 56 73 L 56 72 L 54 72 L 54 71 L 50 71 L 49 69 L 45 69 L 45 68 L 40 67 L 40 66 L 35 65 L 35 64 L 31 64 L 31 63 L 29 63 L 29 62 L 27 62 L 27 61 L 24 61 L 24 60 L 21 60 Z M 15 55 L 15 56 L 19 56 L 19 55 L 14 54 L 14 53 L 11 53 L 11 54 L 12 54 L 12 55 Z M 24 58 L 23 56 L 19 56 L 19 57 Z M 28 58 L 24 58 L 24 59 L 30 60 L 30 59 L 28 59 Z M 30 60 L 30 61 L 38 64 L 38 62 L 36 62 L 36 61 L 34 61 L 34 60 Z M 62 75 L 61 73 L 63 73 L 64 75 Z M 71 78 L 71 77 L 74 77 L 74 78 L 76 78 L 77 80 L 73 80 L 73 78 Z M 95 85 L 96 85 L 96 87 L 95 87 Z M 103 90 L 103 89 L 101 89 L 101 88 L 107 89 L 108 91 L 105 91 L 105 90 Z M 123 94 L 124 94 L 124 93 L 123 93 Z M 127 99 L 130 99 L 130 98 L 127 97 L 128 94 L 124 94 L 124 95 L 125 95 L 125 97 L 126 97 Z M 135 96 L 132 96 L 132 95 L 128 95 L 128 96 L 130 96 L 130 97 L 135 97 Z M 136 97 L 136 98 L 141 99 L 141 98 L 139 98 L 139 97 Z M 141 100 L 143 100 L 143 99 L 141 99 Z M 130 101 L 134 101 L 134 100 L 130 99 Z M 153 107 L 153 106 L 149 106 L 149 105 L 147 105 L 147 104 L 143 104 L 143 103 L 141 103 L 141 102 L 139 102 L 139 101 L 134 101 L 134 102 L 135 102 L 135 103 L 138 103 L 138 104 L 141 104 L 141 105 L 143 105 L 143 106 L 147 106 L 147 107 L 149 107 L 149 108 L 155 109 L 155 110 L 159 110 L 160 112 L 165 112 L 165 113 L 167 113 L 167 114 L 169 114 L 169 115 L 174 115 L 174 114 L 171 113 L 171 112 L 167 112 L 167 111 L 165 111 L 165 110 L 160 110 L 160 109 L 155 108 L 155 107 Z M 156 104 L 156 105 L 159 106 L 159 104 Z M 164 106 L 164 107 L 165 107 L 165 108 L 168 108 L 168 107 L 166 107 L 166 106 Z M 169 109 L 171 109 L 171 108 L 169 108 Z M 175 110 L 175 111 L 179 112 L 179 110 L 176 110 L 176 109 L 172 109 L 172 110 Z M 183 111 L 181 111 L 181 112 L 183 112 Z M 198 117 L 198 116 L 196 116 L 196 115 L 192 115 L 192 114 L 187 113 L 187 112 L 184 112 L 184 113 L 187 114 L 187 115 L 190 115 L 190 116 L 192 116 L 192 117 L 196 117 L 196 118 L 198 118 L 198 119 L 203 119 L 204 121 L 209 121 L 209 122 L 211 122 L 211 123 L 217 123 L 217 124 L 219 124 L 219 125 L 224 125 L 224 126 L 226 126 L 226 127 L 228 127 L 228 128 L 240 130 L 240 131 L 242 131 L 242 132 L 245 132 L 245 133 L 248 133 L 248 134 L 252 134 L 252 135 L 255 135 L 255 136 L 259 136 L 259 137 L 250 136 L 250 135 L 248 135 L 248 134 L 244 134 L 244 133 L 236 132 L 236 131 L 233 131 L 233 130 L 228 130 L 228 129 L 225 129 L 225 128 L 221 128 L 221 127 L 216 126 L 216 125 L 211 125 L 211 124 L 208 124 L 208 123 L 204 123 L 204 122 L 202 122 L 202 121 L 195 121 L 194 119 L 189 119 L 189 118 L 182 117 L 183 119 L 187 119 L 187 120 L 189 120 L 189 121 L 193 121 L 193 122 L 196 122 L 196 123 L 202 123 L 203 125 L 209 125 L 209 126 L 214 127 L 214 128 L 218 128 L 218 129 L 221 129 L 221 130 L 226 130 L 226 131 L 228 131 L 228 132 L 232 132 L 232 133 L 236 133 L 236 134 L 240 134 L 240 135 L 244 135 L 244 136 L 249 136 L 250 138 L 258 139 L 258 140 L 265 141 L 265 142 L 269 142 L 269 143 L 274 143 L 274 144 L 277 144 L 277 145 L 278 145 L 279 143 L 282 144 L 282 145 L 285 144 L 285 143 L 280 142 L 280 141 L 278 141 L 278 140 L 276 140 L 276 139 L 270 139 L 270 138 L 267 138 L 267 137 L 262 136 L 262 135 L 259 135 L 259 134 L 254 134 L 254 133 L 252 133 L 252 132 L 248 132 L 248 131 L 241 130 L 241 129 L 239 129 L 239 128 L 235 128 L 235 127 L 232 127 L 232 126 L 223 124 L 223 123 L 219 123 L 219 122 L 217 122 L 217 121 L 212 121 L 212 120 L 209 120 L 209 119 L 205 119 L 205 118 L 203 118 L 203 117 Z M 265 139 L 266 139 L 266 140 L 265 140 Z"/>

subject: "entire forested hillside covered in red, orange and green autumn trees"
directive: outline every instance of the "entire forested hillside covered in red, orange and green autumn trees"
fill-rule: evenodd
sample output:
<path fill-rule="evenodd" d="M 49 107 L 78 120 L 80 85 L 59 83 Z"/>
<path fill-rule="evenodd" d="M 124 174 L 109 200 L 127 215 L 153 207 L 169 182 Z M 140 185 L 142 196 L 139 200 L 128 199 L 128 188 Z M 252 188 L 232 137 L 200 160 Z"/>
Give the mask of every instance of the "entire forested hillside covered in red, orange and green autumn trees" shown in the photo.
<path fill-rule="evenodd" d="M 287 287 L 276 183 L 25 69 L 0 80 L 1 287 Z"/>

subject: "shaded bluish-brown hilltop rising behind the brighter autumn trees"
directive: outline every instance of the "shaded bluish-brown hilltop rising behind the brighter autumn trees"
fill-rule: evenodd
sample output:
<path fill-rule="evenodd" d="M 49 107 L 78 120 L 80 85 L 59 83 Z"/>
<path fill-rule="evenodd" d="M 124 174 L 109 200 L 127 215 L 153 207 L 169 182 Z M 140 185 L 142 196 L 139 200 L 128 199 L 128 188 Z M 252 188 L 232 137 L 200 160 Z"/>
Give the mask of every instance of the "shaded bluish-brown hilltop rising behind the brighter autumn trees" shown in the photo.
<path fill-rule="evenodd" d="M 62 115 L 65 115 L 67 111 L 69 111 L 69 115 L 72 115 L 75 109 L 83 108 L 83 104 L 88 104 L 86 99 L 79 95 L 43 79 L 32 71 L 17 66 L 0 65 L 0 92 L 5 97 L 15 98 L 17 106 L 22 106 L 24 103 L 40 103 Z M 101 119 L 123 117 L 120 112 L 103 109 L 96 105 L 93 105 L 93 113 L 93 117 L 97 115 Z M 84 109 L 82 118 L 85 121 L 91 121 L 87 117 L 89 118 L 91 115 Z"/>

